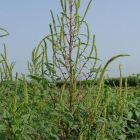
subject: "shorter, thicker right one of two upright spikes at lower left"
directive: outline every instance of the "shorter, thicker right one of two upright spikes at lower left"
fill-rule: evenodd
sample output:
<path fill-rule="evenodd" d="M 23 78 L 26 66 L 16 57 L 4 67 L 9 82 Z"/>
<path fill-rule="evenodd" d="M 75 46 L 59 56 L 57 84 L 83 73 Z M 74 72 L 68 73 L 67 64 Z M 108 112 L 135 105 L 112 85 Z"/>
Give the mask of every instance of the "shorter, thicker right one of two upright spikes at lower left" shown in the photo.
<path fill-rule="evenodd" d="M 23 81 L 24 81 L 24 85 L 23 85 L 24 103 L 25 103 L 25 105 L 27 105 L 28 104 L 28 91 L 27 91 L 27 82 L 26 82 L 25 74 L 23 74 Z"/>

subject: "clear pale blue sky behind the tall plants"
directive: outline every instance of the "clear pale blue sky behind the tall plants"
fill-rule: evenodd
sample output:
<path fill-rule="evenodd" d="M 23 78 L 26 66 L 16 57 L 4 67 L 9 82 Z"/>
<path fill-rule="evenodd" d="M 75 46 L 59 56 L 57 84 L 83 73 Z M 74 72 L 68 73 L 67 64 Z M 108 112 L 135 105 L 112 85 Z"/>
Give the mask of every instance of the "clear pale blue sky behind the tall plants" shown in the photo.
<path fill-rule="evenodd" d="M 88 2 L 89 0 L 82 0 L 80 16 L 83 16 Z M 106 73 L 109 77 L 119 77 L 120 63 L 123 76 L 140 73 L 139 6 L 140 0 L 93 0 L 91 3 L 85 21 L 90 28 L 90 38 L 96 35 L 98 58 L 102 60 L 98 61 L 97 67 L 100 64 L 103 67 L 115 55 L 131 55 L 112 62 Z M 50 34 L 49 24 L 52 23 L 50 10 L 53 11 L 55 18 L 57 14 L 60 15 L 59 12 L 62 12 L 60 1 L 1 0 L 0 28 L 5 28 L 10 35 L 0 38 L 0 53 L 3 53 L 5 43 L 8 63 L 17 61 L 13 75 L 16 72 L 19 72 L 19 76 L 20 73 L 29 74 L 27 61 L 31 62 L 32 50 L 38 46 L 41 39 Z M 81 33 L 86 33 L 84 26 Z M 52 59 L 51 45 L 49 58 Z"/>

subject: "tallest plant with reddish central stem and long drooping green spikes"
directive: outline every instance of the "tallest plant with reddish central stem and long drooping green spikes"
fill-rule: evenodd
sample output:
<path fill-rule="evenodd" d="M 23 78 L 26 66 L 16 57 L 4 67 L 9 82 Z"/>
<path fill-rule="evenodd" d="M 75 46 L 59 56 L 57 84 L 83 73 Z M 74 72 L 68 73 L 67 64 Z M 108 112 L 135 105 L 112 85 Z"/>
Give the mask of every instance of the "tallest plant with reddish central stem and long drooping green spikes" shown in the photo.
<path fill-rule="evenodd" d="M 65 104 L 65 108 L 67 108 L 67 111 L 70 113 L 71 117 L 74 118 L 76 116 L 77 110 L 78 108 L 80 108 L 80 104 L 83 101 L 83 99 L 86 97 L 87 94 L 85 94 L 82 99 L 79 101 L 78 97 L 81 96 L 80 95 L 80 91 L 82 90 L 83 86 L 77 88 L 76 87 L 76 81 L 77 78 L 79 76 L 79 74 L 82 72 L 83 68 L 86 66 L 87 62 L 89 60 L 92 59 L 95 60 L 94 61 L 94 65 L 91 68 L 90 72 L 87 74 L 87 78 L 86 80 L 91 77 L 92 73 L 94 72 L 95 66 L 96 66 L 96 62 L 98 60 L 97 58 L 97 49 L 96 49 L 96 45 L 95 45 L 95 35 L 93 36 L 93 42 L 92 42 L 92 47 L 91 47 L 91 51 L 90 54 L 88 56 L 84 56 L 84 52 L 86 51 L 87 47 L 89 46 L 89 27 L 86 21 L 84 21 L 87 11 L 90 7 L 90 4 L 92 2 L 92 0 L 90 0 L 90 2 L 88 3 L 88 6 L 86 8 L 86 11 L 84 13 L 84 16 L 81 18 L 79 16 L 79 8 L 80 8 L 80 4 L 81 4 L 81 0 L 69 0 L 69 2 L 67 2 L 66 0 L 60 0 L 61 1 L 61 7 L 62 7 L 62 12 L 61 12 L 61 18 L 57 15 L 57 19 L 58 19 L 58 23 L 59 26 L 56 26 L 56 21 L 54 19 L 54 15 L 53 12 L 51 11 L 51 15 L 52 15 L 52 20 L 53 20 L 53 28 L 52 25 L 50 24 L 50 31 L 51 34 L 48 35 L 47 37 L 45 37 L 39 45 L 42 44 L 42 42 L 45 42 L 46 39 L 48 39 L 51 43 L 52 43 L 52 49 L 53 49 L 53 64 L 52 67 L 50 69 L 49 63 L 48 63 L 48 58 L 47 55 L 45 55 L 46 57 L 46 66 L 47 69 L 50 69 L 50 72 L 52 73 L 52 81 L 54 81 L 54 77 L 56 74 L 56 67 L 60 69 L 63 78 L 65 79 L 65 82 L 67 82 L 67 80 L 70 80 L 70 87 L 67 87 L 68 91 L 69 91 L 69 95 L 68 95 L 68 99 L 67 99 L 67 104 Z M 68 3 L 68 6 L 67 6 Z M 69 7 L 69 12 L 67 10 L 67 7 Z M 75 9 L 75 13 L 73 14 L 73 8 Z M 70 14 L 68 14 L 70 13 Z M 79 30 L 82 24 L 85 24 L 86 28 L 87 28 L 87 35 L 86 34 L 79 34 Z M 58 27 L 58 28 L 57 28 Z M 57 29 L 59 29 L 60 33 L 58 33 Z M 66 30 L 68 30 L 68 33 L 66 33 Z M 86 36 L 87 38 L 87 42 L 83 43 L 81 41 L 80 36 Z M 46 45 L 46 43 L 45 43 Z M 84 46 L 83 50 L 81 51 L 81 45 Z M 46 46 L 44 49 L 47 52 Z M 76 60 L 74 60 L 72 58 L 72 54 L 73 52 L 77 50 L 77 55 L 76 55 Z M 95 57 L 92 56 L 93 51 L 95 50 Z M 68 54 L 68 58 L 66 57 L 66 55 Z M 92 104 L 92 106 L 90 107 L 90 110 L 87 114 L 87 116 L 84 116 L 84 120 L 86 120 L 86 122 L 88 122 L 88 127 L 85 129 L 85 125 L 83 125 L 85 122 L 84 120 L 81 120 L 80 117 L 82 116 L 82 114 L 80 113 L 80 111 L 78 111 L 78 120 L 80 121 L 79 126 L 81 127 L 81 130 L 79 132 L 79 139 L 82 139 L 83 134 L 86 130 L 87 136 L 86 137 L 90 137 L 90 131 L 91 131 L 91 127 L 94 124 L 94 119 L 96 118 L 97 114 L 97 108 L 99 106 L 99 97 L 101 96 L 101 85 L 103 82 L 103 78 L 104 78 L 104 74 L 106 72 L 106 68 L 109 65 L 109 63 L 111 63 L 113 60 L 115 60 L 118 57 L 122 57 L 122 56 L 128 56 L 128 55 L 117 55 L 113 58 L 111 58 L 105 65 L 105 67 L 103 68 L 100 78 L 98 80 L 98 84 L 97 84 L 97 90 L 96 90 L 96 98 Z M 78 70 L 77 65 L 78 65 L 78 61 L 79 58 L 83 57 L 84 59 L 84 63 L 82 65 L 82 68 L 80 70 Z M 62 67 L 65 68 L 65 71 L 67 72 L 67 77 L 64 75 L 64 72 L 62 70 Z M 53 70 L 53 72 L 52 72 Z M 97 75 L 98 73 L 101 71 L 101 66 L 97 69 L 97 71 L 95 72 L 95 78 L 94 81 L 96 81 Z M 92 85 L 93 86 L 93 85 Z M 64 103 L 64 88 L 65 88 L 65 84 L 62 86 L 62 90 L 60 93 L 60 106 L 62 106 L 62 104 Z M 57 89 L 57 88 L 56 88 Z M 56 90 L 57 92 L 57 90 Z M 53 99 L 54 100 L 54 99 Z M 57 108 L 58 102 L 54 103 L 54 107 Z M 87 121 L 88 118 L 88 121 Z M 73 128 L 71 127 L 71 122 L 69 121 L 65 121 L 65 119 L 60 119 L 60 116 L 58 115 L 58 124 L 61 124 L 63 126 L 63 129 L 60 131 L 61 137 L 63 138 L 70 138 L 71 135 L 73 135 L 76 131 L 73 131 Z M 81 125 L 81 126 L 80 126 Z M 59 125 L 58 125 L 59 126 Z"/>

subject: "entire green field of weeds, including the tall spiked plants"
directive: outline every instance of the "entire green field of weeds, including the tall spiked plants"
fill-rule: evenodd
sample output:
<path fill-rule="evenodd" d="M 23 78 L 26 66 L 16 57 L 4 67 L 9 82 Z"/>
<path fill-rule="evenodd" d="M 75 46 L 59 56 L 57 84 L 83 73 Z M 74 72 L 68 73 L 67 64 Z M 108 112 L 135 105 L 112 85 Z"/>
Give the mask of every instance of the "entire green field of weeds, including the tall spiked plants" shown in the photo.
<path fill-rule="evenodd" d="M 91 2 L 80 17 L 81 0 L 60 0 L 59 26 L 51 11 L 51 34 L 33 49 L 32 62 L 27 63 L 28 75 L 18 77 L 16 73 L 13 77 L 16 63 L 8 64 L 4 44 L 4 54 L 0 55 L 0 140 L 140 139 L 139 74 L 134 80 L 122 78 L 120 64 L 119 80 L 105 79 L 108 65 L 118 57 L 129 56 L 126 54 L 112 57 L 103 68 L 101 65 L 96 67 L 100 59 L 95 35 L 89 47 L 89 27 L 84 20 Z M 79 34 L 82 24 L 85 24 L 87 34 Z M 0 30 L 6 33 L 0 37 L 9 35 L 4 28 Z M 87 42 L 82 42 L 81 36 Z M 47 41 L 52 44 L 52 62 L 48 60 Z M 89 55 L 85 53 L 87 48 L 91 48 Z M 42 53 L 38 54 L 40 49 Z M 74 51 L 77 52 L 75 58 L 72 57 Z M 78 68 L 80 60 L 81 69 Z M 83 73 L 89 62 L 91 69 Z M 58 70 L 64 79 L 61 83 Z M 80 84 L 79 76 L 85 78 Z M 89 81 L 89 78 L 93 80 Z"/>

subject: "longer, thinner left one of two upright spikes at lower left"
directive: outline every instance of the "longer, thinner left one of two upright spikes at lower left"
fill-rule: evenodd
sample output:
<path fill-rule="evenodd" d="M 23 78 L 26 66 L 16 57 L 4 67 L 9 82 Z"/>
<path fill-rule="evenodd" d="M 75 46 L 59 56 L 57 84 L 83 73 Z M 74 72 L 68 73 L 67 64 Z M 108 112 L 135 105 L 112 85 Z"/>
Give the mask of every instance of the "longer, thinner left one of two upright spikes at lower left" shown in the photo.
<path fill-rule="evenodd" d="M 13 99 L 13 112 L 16 112 L 16 103 L 17 103 L 17 85 L 18 85 L 18 73 L 16 72 L 16 80 L 15 80 L 15 93 Z"/>

